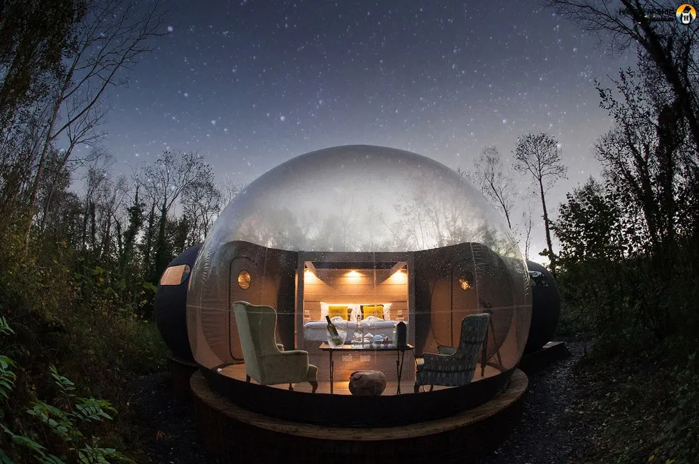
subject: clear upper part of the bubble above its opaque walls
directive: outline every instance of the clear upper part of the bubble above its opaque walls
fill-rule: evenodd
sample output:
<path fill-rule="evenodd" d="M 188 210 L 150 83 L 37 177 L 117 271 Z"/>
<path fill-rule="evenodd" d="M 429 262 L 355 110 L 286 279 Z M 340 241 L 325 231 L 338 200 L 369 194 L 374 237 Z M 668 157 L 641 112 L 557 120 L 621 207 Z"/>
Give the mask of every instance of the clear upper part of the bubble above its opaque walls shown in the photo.
<path fill-rule="evenodd" d="M 479 242 L 519 259 L 503 219 L 454 171 L 366 145 L 296 157 L 248 185 L 207 238 L 327 252 L 408 252 Z"/>

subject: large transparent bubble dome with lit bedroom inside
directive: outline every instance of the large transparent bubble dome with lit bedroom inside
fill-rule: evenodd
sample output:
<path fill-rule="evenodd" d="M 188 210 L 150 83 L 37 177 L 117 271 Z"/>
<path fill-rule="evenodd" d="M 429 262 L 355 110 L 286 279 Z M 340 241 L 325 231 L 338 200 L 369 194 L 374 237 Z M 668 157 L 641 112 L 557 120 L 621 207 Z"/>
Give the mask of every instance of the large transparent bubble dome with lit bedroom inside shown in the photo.
<path fill-rule="evenodd" d="M 306 423 L 415 423 L 485 403 L 507 386 L 531 319 L 526 263 L 482 194 L 432 159 L 373 145 L 310 152 L 254 180 L 208 233 L 190 280 L 189 342 L 210 388 L 240 407 Z M 239 300 L 275 309 L 275 340 L 308 351 L 316 393 L 306 384 L 289 391 L 246 382 L 232 308 Z M 331 307 L 344 307 L 352 324 L 359 315 L 372 335 L 407 324 L 415 349 L 401 380 L 410 393 L 349 395 L 354 370 L 398 381 L 395 354 L 377 351 L 337 356 L 340 394 L 329 394 L 331 367 L 319 346 Z M 368 316 L 367 307 L 381 309 Z M 473 381 L 412 393 L 413 355 L 458 346 L 462 319 L 482 312 L 491 324 Z"/>

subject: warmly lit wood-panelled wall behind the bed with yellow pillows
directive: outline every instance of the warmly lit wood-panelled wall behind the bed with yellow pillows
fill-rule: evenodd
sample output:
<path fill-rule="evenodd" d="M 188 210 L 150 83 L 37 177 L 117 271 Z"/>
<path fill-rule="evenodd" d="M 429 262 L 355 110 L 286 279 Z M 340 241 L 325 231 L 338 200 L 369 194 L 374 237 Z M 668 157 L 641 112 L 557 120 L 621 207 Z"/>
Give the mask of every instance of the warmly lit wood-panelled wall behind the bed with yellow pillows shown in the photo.
<path fill-rule="evenodd" d="M 320 302 L 391 303 L 391 320 L 408 321 L 408 274 L 390 269 L 317 269 L 304 273 L 303 321 L 320 320 Z"/>

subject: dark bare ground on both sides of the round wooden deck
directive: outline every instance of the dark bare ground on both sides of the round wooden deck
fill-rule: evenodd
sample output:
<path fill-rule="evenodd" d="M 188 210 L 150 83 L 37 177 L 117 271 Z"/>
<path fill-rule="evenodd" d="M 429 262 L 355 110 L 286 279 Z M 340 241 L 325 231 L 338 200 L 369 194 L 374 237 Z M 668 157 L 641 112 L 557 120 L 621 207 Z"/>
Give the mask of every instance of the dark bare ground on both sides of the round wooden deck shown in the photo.
<path fill-rule="evenodd" d="M 529 379 L 524 416 L 512 435 L 480 463 L 579 463 L 587 448 L 586 412 L 575 407 L 586 388 L 577 382 L 573 367 L 584 351 L 582 342 L 568 342 L 570 358 Z M 175 403 L 168 390 L 168 374 L 140 381 L 132 402 L 143 429 L 142 449 L 151 463 L 215 464 L 196 435 L 188 405 Z"/>

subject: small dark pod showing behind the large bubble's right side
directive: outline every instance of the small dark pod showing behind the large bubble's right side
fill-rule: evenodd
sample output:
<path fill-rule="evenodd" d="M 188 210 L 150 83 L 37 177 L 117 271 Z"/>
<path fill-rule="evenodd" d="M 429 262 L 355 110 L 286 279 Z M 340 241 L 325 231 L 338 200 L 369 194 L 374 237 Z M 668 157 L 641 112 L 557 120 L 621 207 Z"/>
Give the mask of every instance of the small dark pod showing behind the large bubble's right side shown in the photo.
<path fill-rule="evenodd" d="M 547 268 L 526 262 L 531 277 L 531 327 L 524 347 L 524 353 L 537 351 L 554 337 L 561 317 L 561 293 L 554 276 Z"/>

